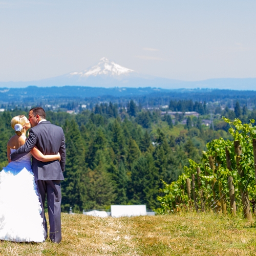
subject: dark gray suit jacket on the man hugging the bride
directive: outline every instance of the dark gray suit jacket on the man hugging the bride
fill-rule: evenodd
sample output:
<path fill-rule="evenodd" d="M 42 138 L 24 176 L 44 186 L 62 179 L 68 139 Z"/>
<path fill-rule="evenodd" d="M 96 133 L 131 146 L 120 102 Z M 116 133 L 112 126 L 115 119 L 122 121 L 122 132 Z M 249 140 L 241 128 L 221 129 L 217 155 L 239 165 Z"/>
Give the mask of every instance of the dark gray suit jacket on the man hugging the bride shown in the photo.
<path fill-rule="evenodd" d="M 50 121 L 42 121 L 32 127 L 26 143 L 10 155 L 15 161 L 29 153 L 36 146 L 44 155 L 60 154 L 61 160 L 41 162 L 32 159 L 32 169 L 35 180 L 64 180 L 62 172 L 65 170 L 66 147 L 65 137 L 61 127 L 51 124 Z"/>

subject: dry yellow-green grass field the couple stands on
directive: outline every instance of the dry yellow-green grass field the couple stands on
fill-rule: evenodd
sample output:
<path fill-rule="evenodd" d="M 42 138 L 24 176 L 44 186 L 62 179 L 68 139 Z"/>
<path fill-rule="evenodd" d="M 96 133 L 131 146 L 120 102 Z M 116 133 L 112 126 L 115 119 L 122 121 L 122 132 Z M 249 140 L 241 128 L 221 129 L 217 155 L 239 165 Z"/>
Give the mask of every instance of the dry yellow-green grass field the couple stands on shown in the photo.
<path fill-rule="evenodd" d="M 62 214 L 62 242 L 0 241 L 0 255 L 256 255 L 255 223 L 216 214 Z"/>

